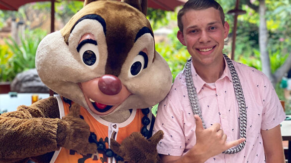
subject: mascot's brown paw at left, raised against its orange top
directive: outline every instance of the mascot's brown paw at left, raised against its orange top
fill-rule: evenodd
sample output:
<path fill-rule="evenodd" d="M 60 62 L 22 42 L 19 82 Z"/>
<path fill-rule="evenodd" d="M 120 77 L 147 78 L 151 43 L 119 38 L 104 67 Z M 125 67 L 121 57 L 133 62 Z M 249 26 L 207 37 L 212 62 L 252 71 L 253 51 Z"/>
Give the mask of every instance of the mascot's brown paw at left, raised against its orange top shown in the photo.
<path fill-rule="evenodd" d="M 73 104 L 70 113 L 58 123 L 58 145 L 80 154 L 97 153 L 97 145 L 89 143 L 90 127 L 80 118 L 80 106 Z"/>

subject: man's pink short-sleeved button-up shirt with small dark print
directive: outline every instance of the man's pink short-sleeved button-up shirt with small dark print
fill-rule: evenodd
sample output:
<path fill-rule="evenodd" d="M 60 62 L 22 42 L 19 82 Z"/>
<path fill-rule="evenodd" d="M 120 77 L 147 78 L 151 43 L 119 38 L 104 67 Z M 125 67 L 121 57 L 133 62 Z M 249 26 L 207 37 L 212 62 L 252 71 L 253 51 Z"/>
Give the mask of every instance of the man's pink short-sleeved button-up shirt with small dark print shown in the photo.
<path fill-rule="evenodd" d="M 247 140 L 237 154 L 219 154 L 205 163 L 265 163 L 261 130 L 279 125 L 286 117 L 280 100 L 268 78 L 255 68 L 234 62 L 243 89 L 247 109 Z M 215 84 L 207 84 L 192 65 L 194 85 L 206 128 L 220 123 L 227 141 L 239 139 L 239 111 L 231 75 L 226 68 Z M 154 133 L 164 131 L 158 153 L 181 156 L 196 142 L 195 119 L 185 83 L 185 70 L 175 79 L 168 96 L 159 104 Z"/>

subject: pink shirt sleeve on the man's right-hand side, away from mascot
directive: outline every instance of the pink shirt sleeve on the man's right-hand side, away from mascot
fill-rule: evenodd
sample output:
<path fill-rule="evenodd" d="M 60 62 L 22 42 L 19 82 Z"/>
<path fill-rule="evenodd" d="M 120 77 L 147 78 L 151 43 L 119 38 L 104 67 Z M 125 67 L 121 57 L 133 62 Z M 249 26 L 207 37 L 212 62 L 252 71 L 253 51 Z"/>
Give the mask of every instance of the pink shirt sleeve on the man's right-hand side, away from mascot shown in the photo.
<path fill-rule="evenodd" d="M 262 130 L 269 130 L 278 126 L 286 118 L 280 99 L 269 79 L 263 75 L 263 116 Z"/>

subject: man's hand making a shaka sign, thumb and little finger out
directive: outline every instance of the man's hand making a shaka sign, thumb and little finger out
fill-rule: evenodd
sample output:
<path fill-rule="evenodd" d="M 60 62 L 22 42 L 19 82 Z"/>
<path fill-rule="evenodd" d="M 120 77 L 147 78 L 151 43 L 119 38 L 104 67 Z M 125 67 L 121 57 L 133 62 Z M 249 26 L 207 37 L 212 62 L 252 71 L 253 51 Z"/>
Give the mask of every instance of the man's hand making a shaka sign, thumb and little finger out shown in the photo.
<path fill-rule="evenodd" d="M 220 124 L 215 123 L 211 127 L 204 129 L 200 117 L 194 115 L 194 118 L 196 123 L 196 144 L 194 148 L 204 152 L 206 160 L 246 140 L 245 138 L 240 138 L 232 142 L 226 142 L 227 136 L 220 129 Z"/>

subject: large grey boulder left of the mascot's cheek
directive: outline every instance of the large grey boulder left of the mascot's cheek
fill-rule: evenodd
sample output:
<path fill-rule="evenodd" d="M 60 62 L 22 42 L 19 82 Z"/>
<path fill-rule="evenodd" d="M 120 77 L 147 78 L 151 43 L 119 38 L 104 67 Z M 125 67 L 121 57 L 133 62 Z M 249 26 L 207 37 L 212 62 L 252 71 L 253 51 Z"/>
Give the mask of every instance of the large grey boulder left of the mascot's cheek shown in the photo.
<path fill-rule="evenodd" d="M 17 74 L 10 89 L 18 93 L 49 93 L 49 88 L 40 80 L 36 69 Z"/>

